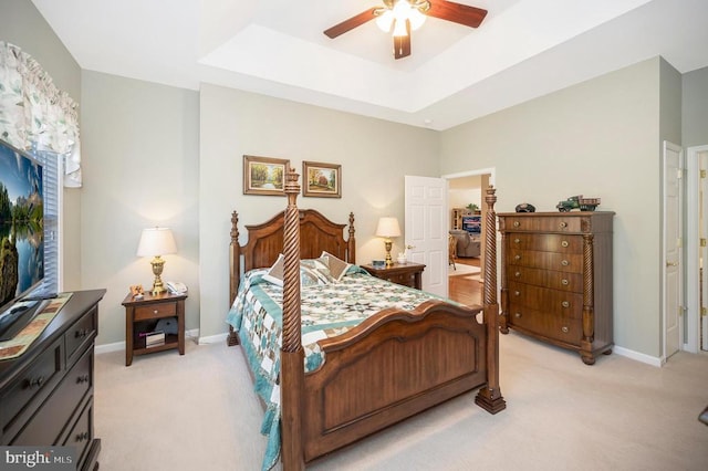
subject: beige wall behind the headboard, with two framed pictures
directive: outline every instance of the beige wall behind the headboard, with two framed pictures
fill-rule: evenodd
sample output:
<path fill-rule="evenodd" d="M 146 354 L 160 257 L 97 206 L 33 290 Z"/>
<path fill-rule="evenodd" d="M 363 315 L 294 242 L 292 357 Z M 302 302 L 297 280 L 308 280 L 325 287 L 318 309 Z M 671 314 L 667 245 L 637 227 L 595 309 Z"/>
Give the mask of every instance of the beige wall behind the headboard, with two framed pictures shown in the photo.
<path fill-rule="evenodd" d="M 341 164 L 342 198 L 301 197 L 299 206 L 342 222 L 353 211 L 362 263 L 384 251 L 373 236 L 379 216 L 396 216 L 403 224 L 404 176 L 440 175 L 433 130 L 208 84 L 200 96 L 202 336 L 226 331 L 231 211 L 239 211 L 242 227 L 263 222 L 285 206 L 284 198 L 243 195 L 243 155 L 290 159 L 299 174 L 303 160 Z M 394 253 L 402 251 L 400 243 L 394 241 Z"/>

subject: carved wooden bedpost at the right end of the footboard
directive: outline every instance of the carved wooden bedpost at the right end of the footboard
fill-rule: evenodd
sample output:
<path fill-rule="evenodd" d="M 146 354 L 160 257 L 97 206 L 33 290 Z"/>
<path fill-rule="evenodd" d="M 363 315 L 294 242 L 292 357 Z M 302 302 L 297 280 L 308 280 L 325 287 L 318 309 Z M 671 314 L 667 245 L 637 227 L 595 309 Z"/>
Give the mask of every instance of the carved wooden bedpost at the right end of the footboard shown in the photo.
<path fill-rule="evenodd" d="M 485 201 L 488 205 L 485 223 L 485 324 L 487 325 L 487 384 L 481 387 L 475 402 L 490 414 L 507 408 L 499 387 L 499 303 L 497 301 L 497 190 L 487 188 Z"/>

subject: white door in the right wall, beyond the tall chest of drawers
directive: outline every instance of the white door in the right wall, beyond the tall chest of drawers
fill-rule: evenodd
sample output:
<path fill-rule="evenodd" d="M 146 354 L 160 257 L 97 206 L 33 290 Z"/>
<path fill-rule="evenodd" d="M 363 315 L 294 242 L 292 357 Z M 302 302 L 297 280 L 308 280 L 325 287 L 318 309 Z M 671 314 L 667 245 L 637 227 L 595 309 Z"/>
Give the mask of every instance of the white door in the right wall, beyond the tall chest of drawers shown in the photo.
<path fill-rule="evenodd" d="M 664 358 L 681 342 L 681 171 L 683 149 L 664 142 Z"/>

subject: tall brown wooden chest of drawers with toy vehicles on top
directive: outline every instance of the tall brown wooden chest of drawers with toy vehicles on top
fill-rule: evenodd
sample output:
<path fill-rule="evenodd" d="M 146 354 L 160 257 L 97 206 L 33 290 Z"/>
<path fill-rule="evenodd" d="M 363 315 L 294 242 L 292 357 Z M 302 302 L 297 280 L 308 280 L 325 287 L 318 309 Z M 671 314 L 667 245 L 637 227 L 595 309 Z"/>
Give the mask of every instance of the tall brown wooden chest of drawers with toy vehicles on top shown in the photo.
<path fill-rule="evenodd" d="M 502 334 L 513 328 L 577 350 L 613 347 L 614 212 L 499 213 Z"/>

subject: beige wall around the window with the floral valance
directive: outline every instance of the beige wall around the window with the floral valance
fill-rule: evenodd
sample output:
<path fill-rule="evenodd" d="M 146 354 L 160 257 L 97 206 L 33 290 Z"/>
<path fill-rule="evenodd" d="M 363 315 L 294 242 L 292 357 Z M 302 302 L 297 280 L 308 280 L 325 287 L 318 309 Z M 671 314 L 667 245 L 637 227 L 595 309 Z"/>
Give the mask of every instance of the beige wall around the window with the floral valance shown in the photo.
<path fill-rule="evenodd" d="M 81 67 L 31 1 L 0 0 L 0 40 L 33 56 L 54 84 L 81 105 Z M 79 107 L 80 118 L 83 118 Z M 81 189 L 63 192 L 63 289 L 81 287 Z"/>

